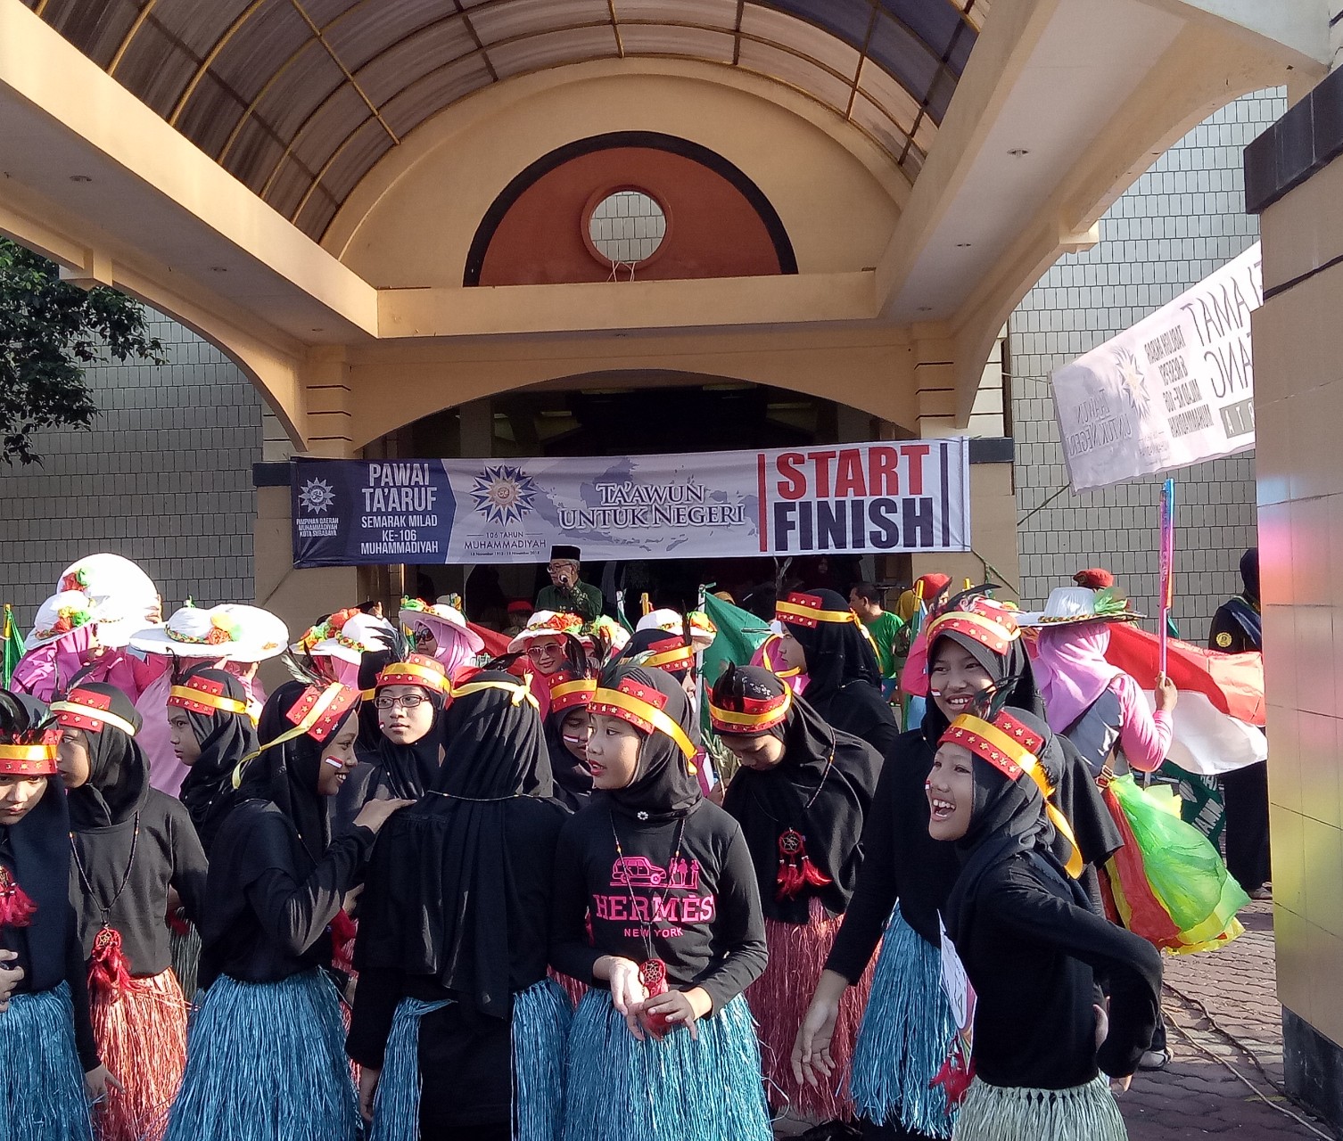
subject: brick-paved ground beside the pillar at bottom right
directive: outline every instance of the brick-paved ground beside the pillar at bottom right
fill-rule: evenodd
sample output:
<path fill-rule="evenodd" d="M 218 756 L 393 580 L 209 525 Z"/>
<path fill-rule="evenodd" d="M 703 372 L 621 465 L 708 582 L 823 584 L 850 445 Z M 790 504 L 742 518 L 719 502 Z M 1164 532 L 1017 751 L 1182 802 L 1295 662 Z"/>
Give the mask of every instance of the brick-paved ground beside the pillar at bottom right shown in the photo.
<path fill-rule="evenodd" d="M 1241 921 L 1245 934 L 1221 950 L 1166 957 L 1163 1007 L 1174 1059 L 1135 1077 L 1120 1095 L 1131 1141 L 1338 1141 L 1283 1094 L 1273 905 L 1252 903 Z M 806 1128 L 780 1122 L 778 1136 Z"/>

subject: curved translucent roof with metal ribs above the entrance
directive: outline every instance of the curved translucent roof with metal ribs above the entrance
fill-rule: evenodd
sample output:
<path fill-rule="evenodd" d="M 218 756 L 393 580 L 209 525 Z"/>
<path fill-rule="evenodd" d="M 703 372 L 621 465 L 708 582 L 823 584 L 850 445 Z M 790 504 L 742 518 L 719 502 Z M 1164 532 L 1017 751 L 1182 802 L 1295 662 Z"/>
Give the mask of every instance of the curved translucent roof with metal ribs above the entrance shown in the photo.
<path fill-rule="evenodd" d="M 990 0 L 26 0 L 313 238 L 422 122 L 604 58 L 763 75 L 913 181 Z"/>

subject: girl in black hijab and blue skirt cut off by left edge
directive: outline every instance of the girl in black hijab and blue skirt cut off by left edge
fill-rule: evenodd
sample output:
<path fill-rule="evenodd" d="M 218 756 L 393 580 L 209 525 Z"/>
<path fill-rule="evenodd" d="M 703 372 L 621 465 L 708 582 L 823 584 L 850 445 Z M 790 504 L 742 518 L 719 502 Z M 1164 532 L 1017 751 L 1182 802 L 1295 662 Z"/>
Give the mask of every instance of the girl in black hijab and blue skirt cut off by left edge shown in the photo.
<path fill-rule="evenodd" d="M 98 1059 L 70 906 L 58 732 L 0 690 L 0 1115 L 15 1141 L 91 1141 Z"/>

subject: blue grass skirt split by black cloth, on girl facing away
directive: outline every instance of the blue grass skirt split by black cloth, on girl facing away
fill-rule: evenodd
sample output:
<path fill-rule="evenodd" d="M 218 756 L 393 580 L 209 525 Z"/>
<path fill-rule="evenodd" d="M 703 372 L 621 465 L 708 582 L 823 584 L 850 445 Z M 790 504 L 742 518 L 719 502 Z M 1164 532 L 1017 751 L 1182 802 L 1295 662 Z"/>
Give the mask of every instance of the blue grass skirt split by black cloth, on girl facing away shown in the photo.
<path fill-rule="evenodd" d="M 402 999 L 387 1039 L 373 1099 L 369 1141 L 419 1137 L 419 1023 L 447 1001 Z M 513 1137 L 555 1141 L 564 1107 L 564 1039 L 573 1018 L 569 997 L 549 979 L 513 996 Z"/>

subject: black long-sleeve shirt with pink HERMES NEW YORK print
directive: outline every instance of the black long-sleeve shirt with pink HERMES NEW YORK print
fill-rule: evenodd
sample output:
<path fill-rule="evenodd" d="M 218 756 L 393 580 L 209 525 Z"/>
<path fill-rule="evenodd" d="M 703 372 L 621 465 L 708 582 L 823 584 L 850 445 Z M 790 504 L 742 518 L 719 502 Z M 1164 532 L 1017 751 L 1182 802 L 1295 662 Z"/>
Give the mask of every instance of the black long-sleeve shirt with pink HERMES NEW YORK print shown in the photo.
<path fill-rule="evenodd" d="M 667 985 L 702 987 L 719 1011 L 768 961 L 755 867 L 740 826 L 716 804 L 700 801 L 685 817 L 680 860 L 676 820 L 631 820 L 600 799 L 565 822 L 555 855 L 551 964 L 606 985 L 592 979 L 596 960 L 643 962 L 647 937 L 666 964 Z"/>

